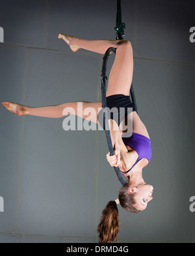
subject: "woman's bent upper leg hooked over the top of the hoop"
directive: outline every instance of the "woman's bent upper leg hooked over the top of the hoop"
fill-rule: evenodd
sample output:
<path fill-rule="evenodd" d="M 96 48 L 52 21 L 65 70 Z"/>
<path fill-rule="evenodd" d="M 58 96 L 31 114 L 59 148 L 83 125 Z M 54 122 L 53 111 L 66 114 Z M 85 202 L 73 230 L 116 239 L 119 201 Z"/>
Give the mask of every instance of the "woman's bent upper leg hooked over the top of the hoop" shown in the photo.
<path fill-rule="evenodd" d="M 85 40 L 66 34 L 59 34 L 73 51 L 83 48 L 104 54 L 108 48 L 116 48 L 116 57 L 110 70 L 107 96 L 112 94 L 129 95 L 133 78 L 133 50 L 127 40 Z"/>

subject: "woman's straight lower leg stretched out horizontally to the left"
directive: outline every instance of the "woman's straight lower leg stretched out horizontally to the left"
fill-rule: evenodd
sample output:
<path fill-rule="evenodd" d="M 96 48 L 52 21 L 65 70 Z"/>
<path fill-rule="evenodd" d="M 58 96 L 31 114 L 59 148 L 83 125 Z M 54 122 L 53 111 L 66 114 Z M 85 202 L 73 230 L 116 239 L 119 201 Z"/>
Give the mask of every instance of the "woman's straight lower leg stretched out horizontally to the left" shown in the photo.
<path fill-rule="evenodd" d="M 83 119 L 90 119 L 98 123 L 98 108 L 101 108 L 101 102 L 67 102 L 55 106 L 29 107 L 12 102 L 2 102 L 12 113 L 17 115 L 35 115 L 37 117 L 59 118 L 66 115 L 78 115 Z"/>

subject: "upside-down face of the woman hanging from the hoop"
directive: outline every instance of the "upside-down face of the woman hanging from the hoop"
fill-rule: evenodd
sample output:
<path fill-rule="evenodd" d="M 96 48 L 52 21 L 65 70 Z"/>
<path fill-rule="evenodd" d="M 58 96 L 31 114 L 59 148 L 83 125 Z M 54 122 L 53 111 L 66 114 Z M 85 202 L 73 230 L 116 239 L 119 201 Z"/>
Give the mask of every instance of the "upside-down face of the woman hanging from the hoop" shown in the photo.
<path fill-rule="evenodd" d="M 145 210 L 148 202 L 153 199 L 153 186 L 148 184 L 140 184 L 135 187 L 134 199 L 136 201 L 135 207 L 139 210 Z"/>

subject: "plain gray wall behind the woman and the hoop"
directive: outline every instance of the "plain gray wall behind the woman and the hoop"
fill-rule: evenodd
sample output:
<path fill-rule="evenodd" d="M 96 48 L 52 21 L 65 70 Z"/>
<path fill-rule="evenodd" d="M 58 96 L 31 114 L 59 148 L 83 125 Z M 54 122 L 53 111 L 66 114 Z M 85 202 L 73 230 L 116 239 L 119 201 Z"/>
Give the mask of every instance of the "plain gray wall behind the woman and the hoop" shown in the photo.
<path fill-rule="evenodd" d="M 153 149 L 144 179 L 154 193 L 140 214 L 119 206 L 120 242 L 195 242 L 193 2 L 122 0 Z M 57 36 L 114 39 L 115 18 L 115 0 L 0 1 L 1 102 L 101 101 L 102 55 L 72 53 Z M 121 187 L 105 159 L 105 132 L 65 132 L 64 118 L 18 117 L 2 106 L 0 117 L 0 242 L 98 242 L 101 211 Z"/>

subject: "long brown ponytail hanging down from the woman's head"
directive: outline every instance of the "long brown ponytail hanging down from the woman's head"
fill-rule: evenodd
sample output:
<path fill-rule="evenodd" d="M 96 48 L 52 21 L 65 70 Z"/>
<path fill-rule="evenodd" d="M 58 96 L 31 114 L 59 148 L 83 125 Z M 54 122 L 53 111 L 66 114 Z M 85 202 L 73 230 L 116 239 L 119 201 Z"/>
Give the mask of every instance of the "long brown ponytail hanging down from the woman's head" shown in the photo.
<path fill-rule="evenodd" d="M 102 212 L 101 220 L 97 229 L 100 243 L 118 242 L 119 214 L 116 201 L 109 201 Z"/>

